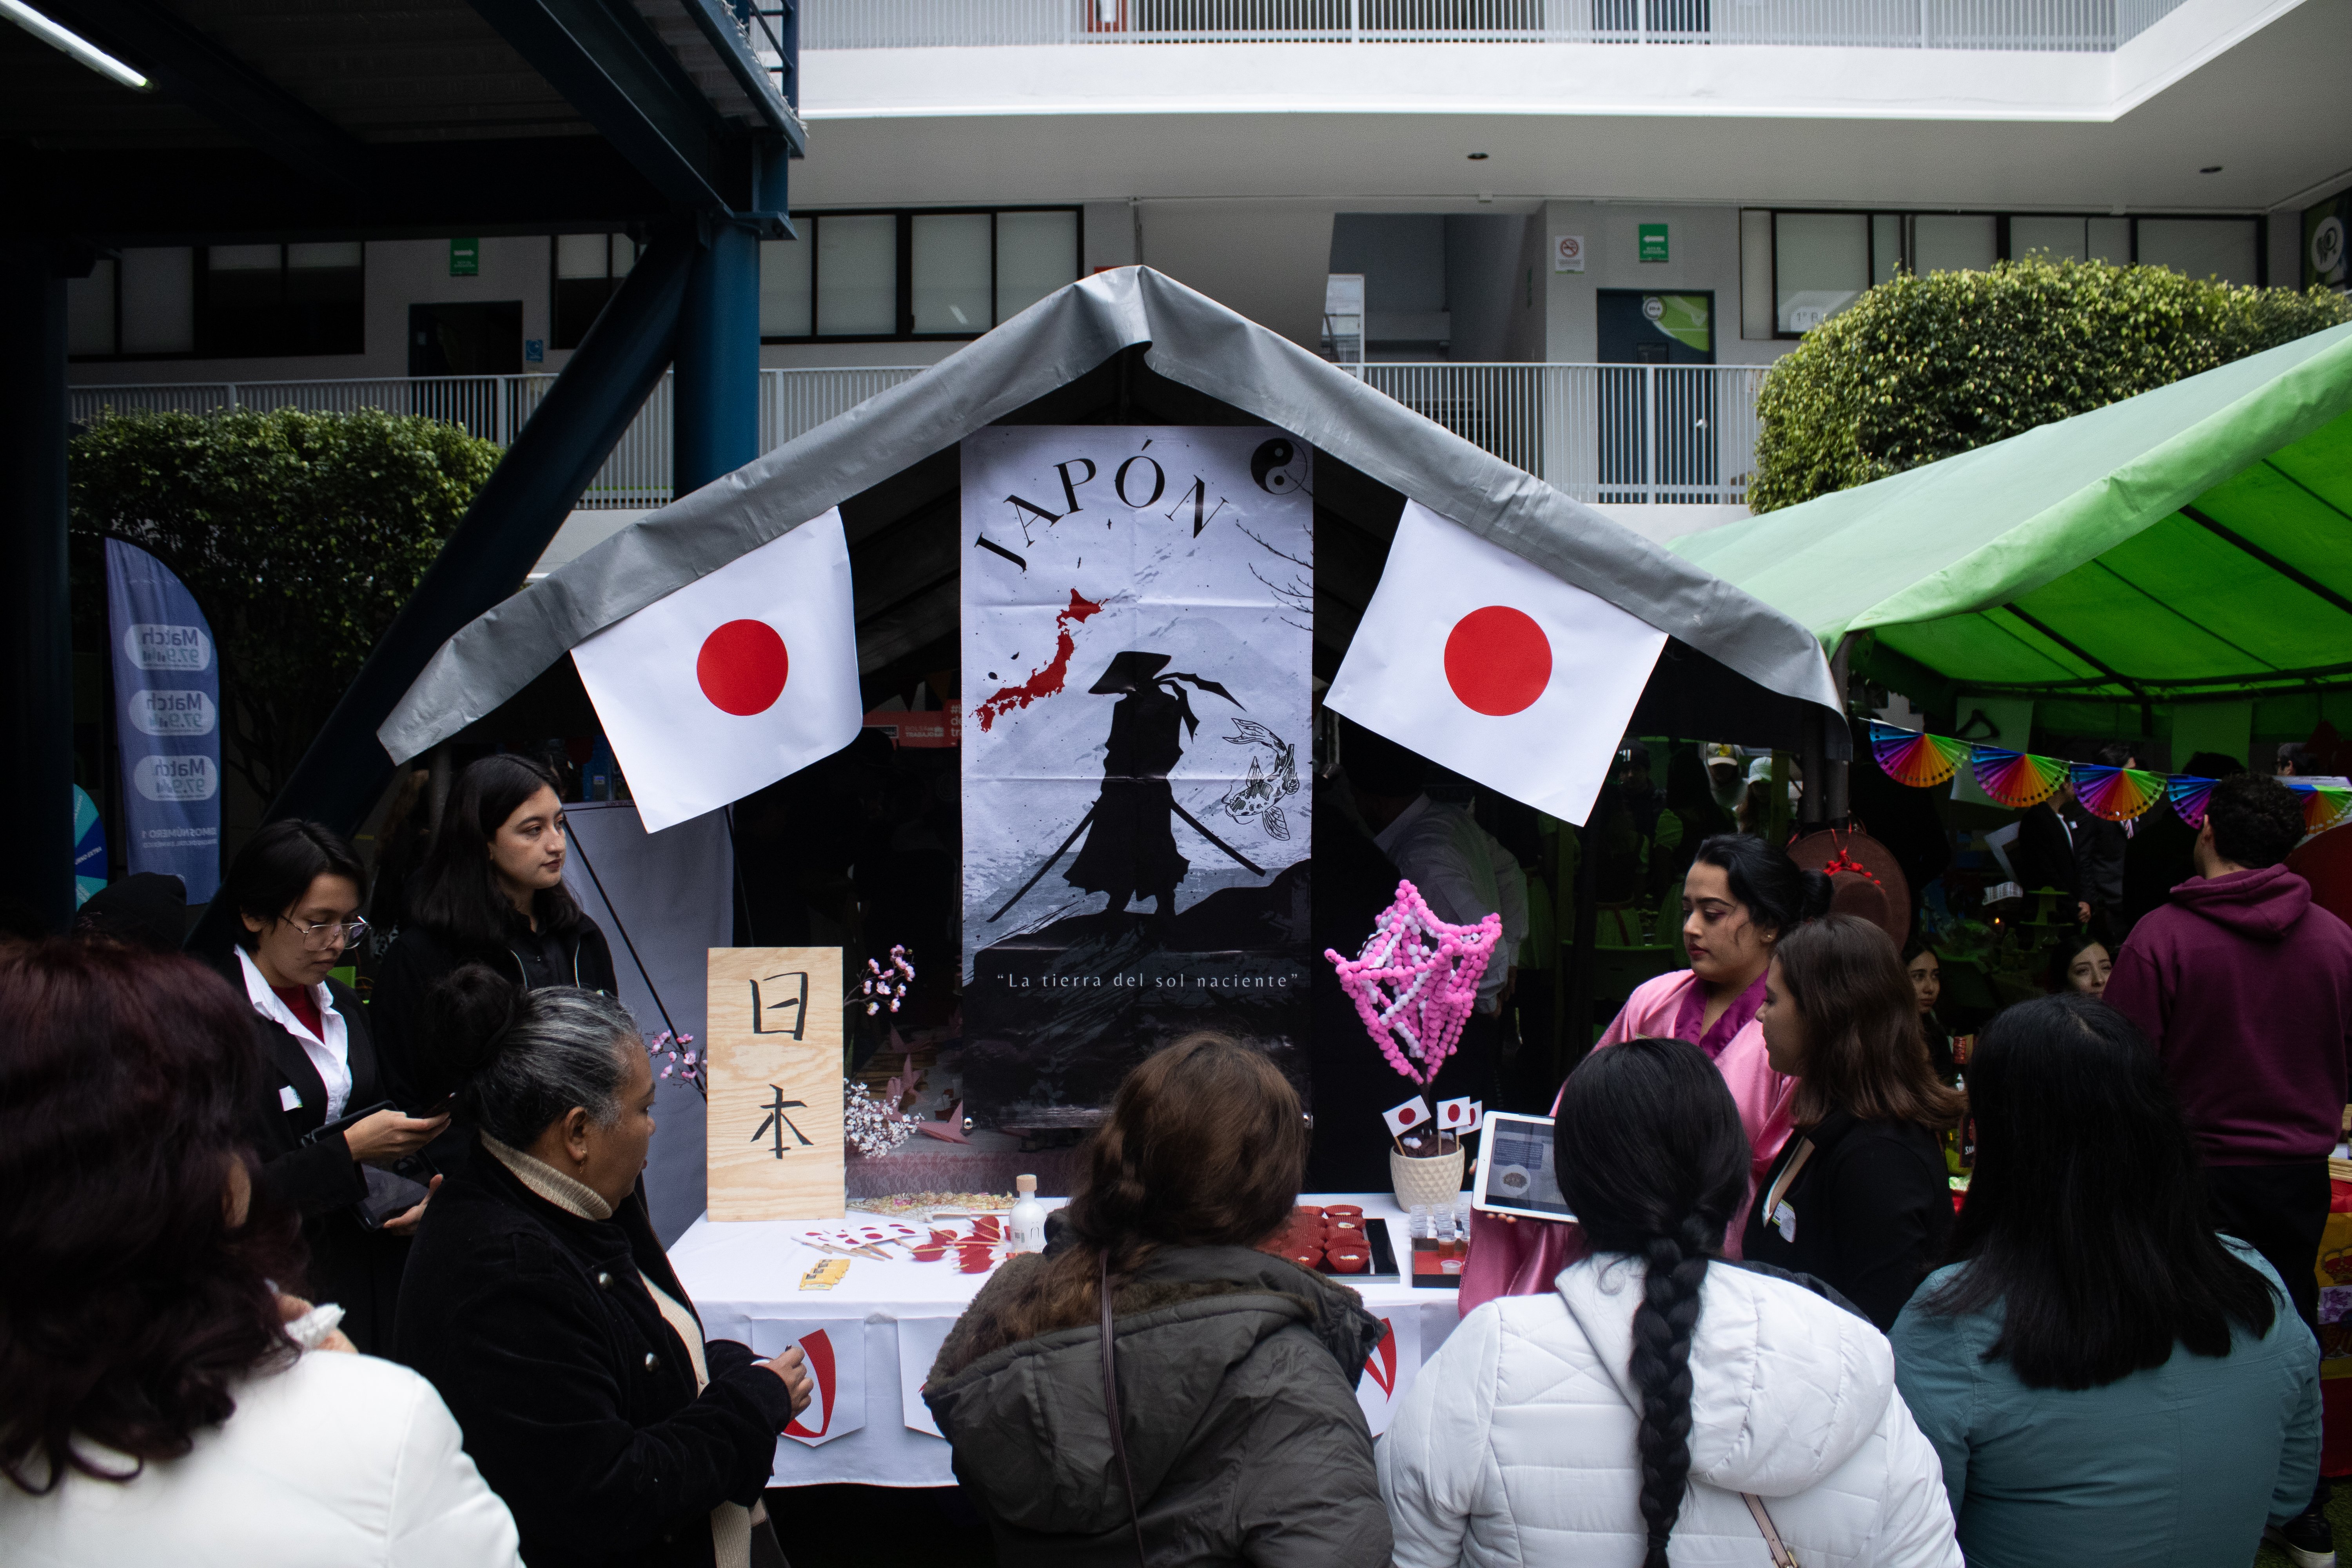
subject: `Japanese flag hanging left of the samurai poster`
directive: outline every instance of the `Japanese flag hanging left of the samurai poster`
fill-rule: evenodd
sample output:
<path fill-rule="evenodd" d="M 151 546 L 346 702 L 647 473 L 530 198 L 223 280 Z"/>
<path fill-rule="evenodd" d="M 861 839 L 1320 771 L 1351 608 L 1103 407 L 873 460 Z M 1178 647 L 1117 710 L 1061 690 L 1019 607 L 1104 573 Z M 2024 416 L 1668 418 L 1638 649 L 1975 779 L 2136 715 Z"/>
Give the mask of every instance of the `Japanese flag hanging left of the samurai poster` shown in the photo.
<path fill-rule="evenodd" d="M 830 510 L 572 649 L 647 832 L 858 738 L 849 541 Z"/>

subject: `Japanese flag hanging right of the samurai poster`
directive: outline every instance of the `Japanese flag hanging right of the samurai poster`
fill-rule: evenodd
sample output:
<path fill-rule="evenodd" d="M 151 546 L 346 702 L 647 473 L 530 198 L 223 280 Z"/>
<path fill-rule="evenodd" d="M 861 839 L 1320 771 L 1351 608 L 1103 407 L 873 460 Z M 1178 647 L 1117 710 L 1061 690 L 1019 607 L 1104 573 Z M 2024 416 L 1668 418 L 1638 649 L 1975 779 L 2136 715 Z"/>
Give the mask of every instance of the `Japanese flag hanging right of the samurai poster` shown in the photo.
<path fill-rule="evenodd" d="M 1406 501 L 1327 701 L 1583 823 L 1661 649 L 1646 621 Z"/>

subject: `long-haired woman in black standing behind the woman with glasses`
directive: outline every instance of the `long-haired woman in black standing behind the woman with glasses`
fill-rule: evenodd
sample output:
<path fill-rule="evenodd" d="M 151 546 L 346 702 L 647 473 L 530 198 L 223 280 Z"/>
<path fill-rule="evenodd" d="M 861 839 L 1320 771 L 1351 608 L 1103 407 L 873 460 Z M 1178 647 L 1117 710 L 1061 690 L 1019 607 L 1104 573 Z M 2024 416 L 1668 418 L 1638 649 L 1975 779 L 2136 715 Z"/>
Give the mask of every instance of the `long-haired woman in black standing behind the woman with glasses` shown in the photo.
<path fill-rule="evenodd" d="M 463 1086 L 428 1023 L 428 997 L 461 966 L 487 964 L 522 990 L 619 990 L 604 933 L 564 891 L 567 858 L 562 790 L 543 762 L 499 752 L 459 773 L 367 1004 L 390 1081 L 419 1103 Z"/>

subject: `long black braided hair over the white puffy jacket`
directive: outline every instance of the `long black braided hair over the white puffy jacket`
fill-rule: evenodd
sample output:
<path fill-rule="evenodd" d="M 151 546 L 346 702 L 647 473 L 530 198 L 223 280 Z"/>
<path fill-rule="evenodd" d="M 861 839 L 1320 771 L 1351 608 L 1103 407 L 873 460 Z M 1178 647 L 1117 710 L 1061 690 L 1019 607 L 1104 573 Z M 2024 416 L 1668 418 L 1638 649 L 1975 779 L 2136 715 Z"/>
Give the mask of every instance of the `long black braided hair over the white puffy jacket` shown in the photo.
<path fill-rule="evenodd" d="M 1644 1267 L 1632 1314 L 1630 1371 L 1642 1394 L 1635 1441 L 1646 1568 L 1665 1568 L 1665 1542 L 1691 1483 L 1698 1288 L 1748 1194 L 1748 1133 L 1698 1046 L 1630 1039 L 1595 1051 L 1569 1074 L 1552 1119 L 1552 1159 L 1559 1192 L 1592 1248 L 1635 1255 Z"/>

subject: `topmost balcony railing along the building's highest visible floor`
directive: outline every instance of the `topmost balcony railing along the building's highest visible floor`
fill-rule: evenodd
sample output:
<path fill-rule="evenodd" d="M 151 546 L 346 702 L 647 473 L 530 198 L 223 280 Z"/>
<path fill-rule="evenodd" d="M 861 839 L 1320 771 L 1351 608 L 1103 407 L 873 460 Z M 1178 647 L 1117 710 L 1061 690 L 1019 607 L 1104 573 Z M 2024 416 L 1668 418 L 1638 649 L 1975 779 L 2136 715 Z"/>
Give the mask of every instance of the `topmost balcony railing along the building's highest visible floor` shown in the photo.
<path fill-rule="evenodd" d="M 802 49 L 1675 42 L 2107 52 L 2183 0 L 814 0 Z"/>

